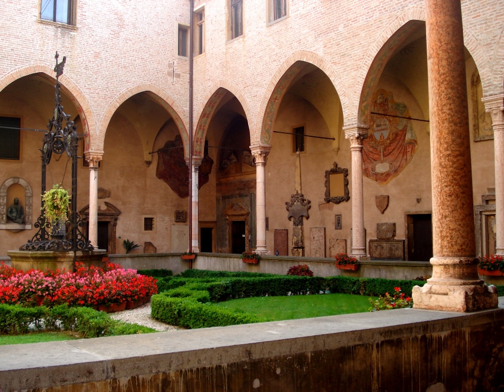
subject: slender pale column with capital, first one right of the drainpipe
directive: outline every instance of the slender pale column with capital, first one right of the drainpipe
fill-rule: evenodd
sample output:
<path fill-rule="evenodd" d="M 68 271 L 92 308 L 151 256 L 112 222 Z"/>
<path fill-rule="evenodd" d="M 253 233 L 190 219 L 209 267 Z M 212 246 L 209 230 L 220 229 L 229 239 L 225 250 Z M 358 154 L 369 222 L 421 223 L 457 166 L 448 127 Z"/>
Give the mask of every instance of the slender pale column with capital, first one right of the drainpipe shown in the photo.
<path fill-rule="evenodd" d="M 250 151 L 255 157 L 256 170 L 256 249 L 257 253 L 268 253 L 266 249 L 266 157 L 271 146 L 251 146 Z"/>

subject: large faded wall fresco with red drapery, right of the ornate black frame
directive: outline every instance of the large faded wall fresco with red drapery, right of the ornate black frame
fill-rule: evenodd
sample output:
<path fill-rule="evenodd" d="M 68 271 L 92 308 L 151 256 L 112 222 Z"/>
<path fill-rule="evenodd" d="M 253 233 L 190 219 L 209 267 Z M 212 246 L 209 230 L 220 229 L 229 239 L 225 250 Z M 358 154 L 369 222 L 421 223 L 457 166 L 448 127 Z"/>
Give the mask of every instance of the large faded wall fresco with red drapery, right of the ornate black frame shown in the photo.
<path fill-rule="evenodd" d="M 378 89 L 373 97 L 368 138 L 362 148 L 362 172 L 380 185 L 386 184 L 406 167 L 418 142 L 408 107 L 396 102 L 391 92 Z"/>

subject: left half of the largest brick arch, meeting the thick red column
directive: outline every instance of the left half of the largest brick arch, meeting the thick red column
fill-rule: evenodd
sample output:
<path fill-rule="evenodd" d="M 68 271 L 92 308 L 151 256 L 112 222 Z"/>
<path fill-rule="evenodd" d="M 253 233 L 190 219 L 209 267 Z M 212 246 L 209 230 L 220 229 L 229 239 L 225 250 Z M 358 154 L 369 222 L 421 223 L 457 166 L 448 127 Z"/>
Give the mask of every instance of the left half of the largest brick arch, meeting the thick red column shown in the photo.
<path fill-rule="evenodd" d="M 379 77 L 393 53 L 388 48 L 402 42 L 402 37 L 407 36 L 411 30 L 417 28 L 418 25 L 412 23 L 410 28 L 398 33 L 408 22 L 425 22 L 425 18 L 425 8 L 412 6 L 396 15 L 390 23 L 387 23 L 387 27 L 374 40 L 359 68 L 353 94 L 354 99 L 352 100 L 352 115 L 347 117 L 346 126 L 352 123 L 368 123 L 371 94 L 375 90 Z M 390 38 L 397 40 L 397 43 L 391 42 Z"/>

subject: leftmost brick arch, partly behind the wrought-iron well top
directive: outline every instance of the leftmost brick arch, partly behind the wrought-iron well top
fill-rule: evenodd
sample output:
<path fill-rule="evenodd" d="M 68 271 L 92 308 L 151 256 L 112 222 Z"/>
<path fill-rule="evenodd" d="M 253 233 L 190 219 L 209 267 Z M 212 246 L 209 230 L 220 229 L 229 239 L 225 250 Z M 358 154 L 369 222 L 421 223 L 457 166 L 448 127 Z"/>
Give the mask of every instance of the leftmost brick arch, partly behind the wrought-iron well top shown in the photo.
<path fill-rule="evenodd" d="M 13 81 L 21 79 L 22 77 L 33 75 L 33 74 L 43 74 L 44 77 L 56 82 L 54 77 L 54 69 L 42 65 L 35 64 L 10 71 L 3 76 L 0 76 L 0 91 L 5 89 Z M 59 82 L 61 84 L 62 91 L 70 98 L 72 104 L 77 109 L 76 114 L 72 115 L 72 118 L 76 118 L 77 114 L 80 116 L 80 121 L 82 122 L 84 128 L 85 145 L 89 146 L 93 140 L 94 135 L 96 135 L 96 119 L 94 113 L 91 110 L 86 97 L 83 92 L 77 87 L 77 85 L 64 73 L 59 77 Z"/>

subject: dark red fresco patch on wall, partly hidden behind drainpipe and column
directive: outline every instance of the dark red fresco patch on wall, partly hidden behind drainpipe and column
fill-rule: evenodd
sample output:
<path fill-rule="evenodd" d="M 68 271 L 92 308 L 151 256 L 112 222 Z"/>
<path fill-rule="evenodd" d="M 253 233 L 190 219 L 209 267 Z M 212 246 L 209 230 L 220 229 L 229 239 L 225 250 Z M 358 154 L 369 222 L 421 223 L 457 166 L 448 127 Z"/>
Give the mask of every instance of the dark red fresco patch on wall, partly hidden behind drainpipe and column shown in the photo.
<path fill-rule="evenodd" d="M 212 171 L 213 159 L 208 154 L 201 161 L 201 167 L 207 167 L 205 173 L 198 171 L 198 189 L 208 182 Z M 156 177 L 165 181 L 178 197 L 189 197 L 189 168 L 184 157 L 184 145 L 180 135 L 169 140 L 157 151 Z"/>

